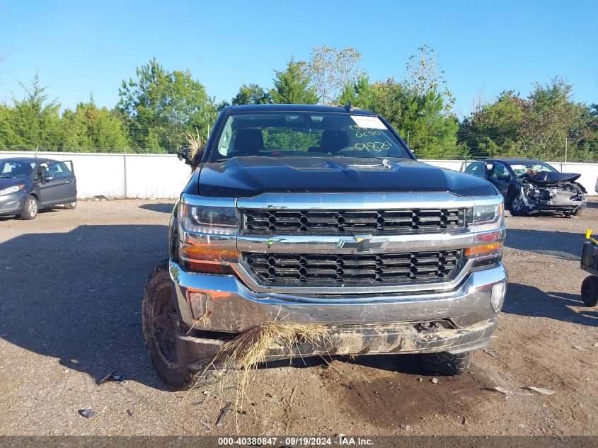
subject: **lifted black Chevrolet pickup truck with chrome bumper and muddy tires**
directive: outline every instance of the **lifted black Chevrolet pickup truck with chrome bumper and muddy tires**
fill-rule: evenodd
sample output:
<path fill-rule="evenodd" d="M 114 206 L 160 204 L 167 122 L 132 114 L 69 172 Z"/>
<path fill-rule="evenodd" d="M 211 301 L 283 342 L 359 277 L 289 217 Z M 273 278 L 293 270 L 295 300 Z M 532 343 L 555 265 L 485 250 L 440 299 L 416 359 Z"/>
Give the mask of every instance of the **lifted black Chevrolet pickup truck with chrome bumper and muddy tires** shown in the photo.
<path fill-rule="evenodd" d="M 267 323 L 326 328 L 267 359 L 417 353 L 463 374 L 490 343 L 507 285 L 491 183 L 417 161 L 383 117 L 348 104 L 226 108 L 200 157 L 142 304 L 171 388 Z"/>

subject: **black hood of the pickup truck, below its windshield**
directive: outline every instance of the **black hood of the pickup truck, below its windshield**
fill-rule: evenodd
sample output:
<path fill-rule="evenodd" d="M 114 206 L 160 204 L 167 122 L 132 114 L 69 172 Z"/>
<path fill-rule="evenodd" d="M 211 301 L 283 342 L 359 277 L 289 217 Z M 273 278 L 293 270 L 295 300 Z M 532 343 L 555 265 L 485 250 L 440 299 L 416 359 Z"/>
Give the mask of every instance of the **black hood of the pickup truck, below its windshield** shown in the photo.
<path fill-rule="evenodd" d="M 197 193 L 253 197 L 262 193 L 450 192 L 497 195 L 486 180 L 410 159 L 350 157 L 234 157 L 205 163 Z"/>

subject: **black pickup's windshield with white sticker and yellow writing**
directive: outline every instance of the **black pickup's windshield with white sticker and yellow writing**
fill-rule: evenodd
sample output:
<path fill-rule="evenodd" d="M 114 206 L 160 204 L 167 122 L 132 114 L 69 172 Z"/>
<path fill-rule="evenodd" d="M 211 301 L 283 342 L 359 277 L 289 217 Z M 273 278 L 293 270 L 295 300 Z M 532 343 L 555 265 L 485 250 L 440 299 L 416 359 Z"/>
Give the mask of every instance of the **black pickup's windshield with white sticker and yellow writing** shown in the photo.
<path fill-rule="evenodd" d="M 378 117 L 344 113 L 238 113 L 226 120 L 209 159 L 398 157 L 408 151 Z"/>

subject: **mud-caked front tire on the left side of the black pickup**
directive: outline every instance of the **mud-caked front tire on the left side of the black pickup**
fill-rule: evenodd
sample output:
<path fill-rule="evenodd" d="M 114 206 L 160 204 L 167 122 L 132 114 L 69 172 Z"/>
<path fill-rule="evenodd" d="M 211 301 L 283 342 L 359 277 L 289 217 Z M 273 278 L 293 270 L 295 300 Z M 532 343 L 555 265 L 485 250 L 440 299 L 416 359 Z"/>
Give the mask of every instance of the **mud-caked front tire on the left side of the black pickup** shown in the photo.
<path fill-rule="evenodd" d="M 200 382 L 209 384 L 217 381 L 216 372 L 211 369 L 191 369 L 178 363 L 176 337 L 187 333 L 189 328 L 176 314 L 168 259 L 162 260 L 147 280 L 142 302 L 142 322 L 149 358 L 166 386 L 175 391 L 184 391 Z"/>

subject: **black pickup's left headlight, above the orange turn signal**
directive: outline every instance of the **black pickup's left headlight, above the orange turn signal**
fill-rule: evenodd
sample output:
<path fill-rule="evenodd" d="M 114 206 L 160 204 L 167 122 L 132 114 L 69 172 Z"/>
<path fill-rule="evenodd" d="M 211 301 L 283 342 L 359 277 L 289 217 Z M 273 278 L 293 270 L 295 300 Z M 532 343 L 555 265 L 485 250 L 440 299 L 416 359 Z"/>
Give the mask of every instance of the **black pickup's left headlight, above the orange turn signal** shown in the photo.
<path fill-rule="evenodd" d="M 236 235 L 236 209 L 181 203 L 178 216 L 183 231 L 197 234 Z"/>

